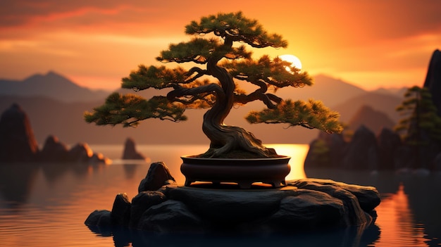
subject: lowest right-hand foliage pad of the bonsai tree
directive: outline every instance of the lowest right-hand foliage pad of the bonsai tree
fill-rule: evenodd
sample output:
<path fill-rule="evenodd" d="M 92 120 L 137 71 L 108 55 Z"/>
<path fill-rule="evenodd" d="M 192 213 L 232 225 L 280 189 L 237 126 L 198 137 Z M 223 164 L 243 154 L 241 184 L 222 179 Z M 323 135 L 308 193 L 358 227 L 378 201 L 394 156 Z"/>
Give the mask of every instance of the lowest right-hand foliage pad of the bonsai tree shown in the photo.
<path fill-rule="evenodd" d="M 339 113 L 323 106 L 321 101 L 282 101 L 274 109 L 251 111 L 246 117 L 250 123 L 287 123 L 291 126 L 302 126 L 309 129 L 321 129 L 328 133 L 342 132 L 338 122 Z"/>

